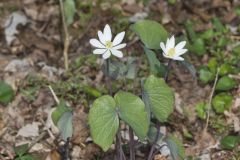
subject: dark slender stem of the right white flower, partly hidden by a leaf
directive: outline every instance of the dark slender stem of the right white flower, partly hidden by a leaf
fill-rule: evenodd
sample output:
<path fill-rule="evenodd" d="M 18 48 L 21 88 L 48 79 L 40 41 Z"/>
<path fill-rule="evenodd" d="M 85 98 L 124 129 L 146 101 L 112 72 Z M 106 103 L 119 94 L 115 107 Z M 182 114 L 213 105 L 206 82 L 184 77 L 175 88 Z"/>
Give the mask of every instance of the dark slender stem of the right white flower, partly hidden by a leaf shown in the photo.
<path fill-rule="evenodd" d="M 165 80 L 166 83 L 168 81 L 168 75 L 169 75 L 169 71 L 170 71 L 170 67 L 171 67 L 171 62 L 172 62 L 172 60 L 169 59 L 168 64 L 167 64 L 167 71 L 166 71 L 166 73 L 164 75 L 164 80 Z M 152 157 L 154 156 L 153 153 L 154 153 L 155 145 L 157 144 L 159 136 L 160 136 L 160 122 L 157 121 L 156 125 L 157 125 L 157 135 L 155 137 L 154 143 L 153 143 L 153 145 L 151 147 L 151 150 L 150 150 L 150 153 L 148 155 L 148 160 L 151 160 Z"/>

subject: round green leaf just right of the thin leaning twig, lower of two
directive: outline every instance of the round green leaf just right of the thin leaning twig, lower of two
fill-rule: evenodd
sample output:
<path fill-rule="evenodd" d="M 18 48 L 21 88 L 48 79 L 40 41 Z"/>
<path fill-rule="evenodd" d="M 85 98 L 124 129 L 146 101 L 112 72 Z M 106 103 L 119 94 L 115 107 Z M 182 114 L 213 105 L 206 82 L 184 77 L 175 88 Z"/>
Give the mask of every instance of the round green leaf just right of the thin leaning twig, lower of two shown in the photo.
<path fill-rule="evenodd" d="M 232 105 L 233 97 L 227 93 L 220 93 L 212 100 L 213 108 L 217 113 L 223 113 L 228 110 Z"/>

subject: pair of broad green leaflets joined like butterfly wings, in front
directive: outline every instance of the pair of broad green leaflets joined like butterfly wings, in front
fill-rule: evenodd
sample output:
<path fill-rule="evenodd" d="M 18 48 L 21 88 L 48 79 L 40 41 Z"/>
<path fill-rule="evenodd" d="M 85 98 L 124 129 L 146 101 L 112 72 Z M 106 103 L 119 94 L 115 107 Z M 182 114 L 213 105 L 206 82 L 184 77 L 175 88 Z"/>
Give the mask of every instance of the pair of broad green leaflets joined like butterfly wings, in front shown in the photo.
<path fill-rule="evenodd" d="M 147 135 L 149 122 L 144 102 L 132 93 L 119 91 L 114 97 L 96 99 L 89 113 L 89 124 L 95 143 L 107 151 L 113 143 L 122 120 L 141 139 Z"/>

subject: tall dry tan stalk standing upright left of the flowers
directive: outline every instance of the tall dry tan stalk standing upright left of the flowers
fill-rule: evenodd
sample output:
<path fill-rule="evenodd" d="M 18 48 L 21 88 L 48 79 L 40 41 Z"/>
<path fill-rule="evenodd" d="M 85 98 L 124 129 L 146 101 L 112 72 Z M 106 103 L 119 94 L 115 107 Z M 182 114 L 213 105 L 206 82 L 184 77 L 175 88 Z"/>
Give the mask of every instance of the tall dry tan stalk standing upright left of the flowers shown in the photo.
<path fill-rule="evenodd" d="M 68 28 L 65 20 L 65 14 L 64 14 L 64 8 L 63 8 L 63 1 L 59 0 L 60 3 L 60 11 L 62 15 L 62 24 L 63 24 L 63 30 L 64 30 L 64 49 L 63 49 L 63 56 L 64 56 L 64 66 L 65 69 L 68 70 L 68 48 L 70 44 L 70 39 L 69 39 L 69 33 L 68 33 Z"/>

